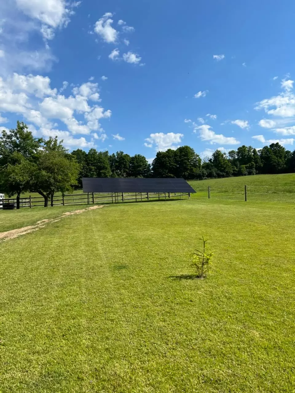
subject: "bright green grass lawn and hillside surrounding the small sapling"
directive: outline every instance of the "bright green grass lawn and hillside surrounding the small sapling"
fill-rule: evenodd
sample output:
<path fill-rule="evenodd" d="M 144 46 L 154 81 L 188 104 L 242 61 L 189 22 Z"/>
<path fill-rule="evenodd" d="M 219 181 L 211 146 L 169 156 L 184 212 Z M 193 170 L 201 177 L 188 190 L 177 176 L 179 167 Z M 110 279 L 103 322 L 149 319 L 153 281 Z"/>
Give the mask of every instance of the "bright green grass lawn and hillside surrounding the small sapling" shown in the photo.
<path fill-rule="evenodd" d="M 294 392 L 294 205 L 206 199 L 209 183 L 257 178 L 196 182 L 190 200 L 110 205 L 2 242 L 1 393 Z M 64 211 L 2 211 L 0 223 Z M 212 271 L 184 279 L 202 235 Z"/>

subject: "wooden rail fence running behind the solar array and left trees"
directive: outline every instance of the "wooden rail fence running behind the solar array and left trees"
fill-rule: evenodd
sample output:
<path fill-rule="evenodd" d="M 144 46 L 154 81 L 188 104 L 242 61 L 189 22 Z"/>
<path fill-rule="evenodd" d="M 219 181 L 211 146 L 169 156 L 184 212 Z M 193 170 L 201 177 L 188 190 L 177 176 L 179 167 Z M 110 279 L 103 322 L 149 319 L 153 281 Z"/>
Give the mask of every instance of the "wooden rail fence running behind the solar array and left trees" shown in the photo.
<path fill-rule="evenodd" d="M 63 194 L 53 196 L 48 200 L 48 206 L 90 205 L 124 202 L 144 202 L 149 200 L 171 200 L 190 198 L 190 193 L 83 193 Z M 44 206 L 42 196 L 29 196 L 20 198 L 20 208 L 35 208 Z M 15 209 L 16 198 L 0 199 L 0 209 Z"/>

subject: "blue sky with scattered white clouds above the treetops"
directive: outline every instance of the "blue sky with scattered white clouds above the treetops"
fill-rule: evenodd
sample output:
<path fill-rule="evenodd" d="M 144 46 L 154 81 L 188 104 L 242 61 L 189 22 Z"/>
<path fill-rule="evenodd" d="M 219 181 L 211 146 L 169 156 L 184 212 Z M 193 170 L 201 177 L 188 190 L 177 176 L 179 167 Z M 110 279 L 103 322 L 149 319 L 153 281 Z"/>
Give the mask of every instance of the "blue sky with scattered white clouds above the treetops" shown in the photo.
<path fill-rule="evenodd" d="M 295 3 L 0 4 L 0 125 L 149 160 L 295 141 Z"/>

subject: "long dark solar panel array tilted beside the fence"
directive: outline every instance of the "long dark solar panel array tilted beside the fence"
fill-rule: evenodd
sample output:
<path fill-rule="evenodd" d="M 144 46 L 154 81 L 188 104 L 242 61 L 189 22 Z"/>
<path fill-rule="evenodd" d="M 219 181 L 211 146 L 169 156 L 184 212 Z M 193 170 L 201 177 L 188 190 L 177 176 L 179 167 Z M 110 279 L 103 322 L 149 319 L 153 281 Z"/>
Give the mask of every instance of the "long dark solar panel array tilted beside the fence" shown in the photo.
<path fill-rule="evenodd" d="M 184 179 L 83 177 L 85 193 L 195 193 Z"/>

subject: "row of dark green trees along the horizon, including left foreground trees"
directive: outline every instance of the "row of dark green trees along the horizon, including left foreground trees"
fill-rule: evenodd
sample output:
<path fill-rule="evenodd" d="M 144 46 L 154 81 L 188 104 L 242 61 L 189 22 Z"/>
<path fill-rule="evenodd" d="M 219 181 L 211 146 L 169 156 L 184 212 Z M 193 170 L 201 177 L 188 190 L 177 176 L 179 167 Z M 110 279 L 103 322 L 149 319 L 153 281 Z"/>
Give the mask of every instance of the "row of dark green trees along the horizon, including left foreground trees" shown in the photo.
<path fill-rule="evenodd" d="M 144 156 L 130 156 L 90 149 L 69 153 L 57 137 L 35 138 L 26 124 L 3 130 L 0 136 L 0 191 L 8 196 L 37 192 L 53 204 L 56 192 L 70 192 L 82 186 L 83 177 L 170 177 L 186 180 L 253 174 L 294 173 L 295 151 L 272 143 L 259 151 L 241 146 L 228 154 L 216 150 L 212 158 L 201 157 L 189 146 L 157 152 L 149 164 Z"/>

